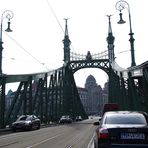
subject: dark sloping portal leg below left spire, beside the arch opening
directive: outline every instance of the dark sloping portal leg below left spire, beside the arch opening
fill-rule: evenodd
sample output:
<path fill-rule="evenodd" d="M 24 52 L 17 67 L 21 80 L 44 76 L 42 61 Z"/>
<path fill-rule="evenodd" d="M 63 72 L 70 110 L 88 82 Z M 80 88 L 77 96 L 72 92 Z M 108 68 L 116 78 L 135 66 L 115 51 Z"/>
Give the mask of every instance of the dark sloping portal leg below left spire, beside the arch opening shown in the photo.
<path fill-rule="evenodd" d="M 73 72 L 69 69 L 69 66 L 65 67 L 63 85 L 64 114 L 70 114 L 72 117 L 81 115 L 84 119 L 88 118 L 78 94 Z"/>

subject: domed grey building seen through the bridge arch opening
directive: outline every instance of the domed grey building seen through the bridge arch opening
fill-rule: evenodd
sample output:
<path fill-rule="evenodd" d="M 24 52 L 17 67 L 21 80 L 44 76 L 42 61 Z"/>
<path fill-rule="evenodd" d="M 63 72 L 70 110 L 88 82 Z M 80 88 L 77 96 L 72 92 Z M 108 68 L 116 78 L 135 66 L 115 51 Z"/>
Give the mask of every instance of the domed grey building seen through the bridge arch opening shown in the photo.
<path fill-rule="evenodd" d="M 89 75 L 86 78 L 85 88 L 78 87 L 81 102 L 88 115 L 101 114 L 103 106 L 108 102 L 108 82 L 104 88 L 96 83 L 96 79 Z"/>

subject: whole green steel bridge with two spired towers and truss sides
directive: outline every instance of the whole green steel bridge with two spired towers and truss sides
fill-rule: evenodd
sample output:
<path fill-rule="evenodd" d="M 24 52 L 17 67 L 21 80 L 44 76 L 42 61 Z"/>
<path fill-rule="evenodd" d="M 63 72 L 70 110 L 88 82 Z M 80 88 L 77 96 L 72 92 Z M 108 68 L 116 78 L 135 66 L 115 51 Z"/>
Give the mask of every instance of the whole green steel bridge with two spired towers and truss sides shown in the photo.
<path fill-rule="evenodd" d="M 45 124 L 58 121 L 64 114 L 81 115 L 86 119 L 73 76 L 83 68 L 98 68 L 108 75 L 110 103 L 119 103 L 122 110 L 148 112 L 148 61 L 127 69 L 116 63 L 110 16 L 108 18 L 108 50 L 98 54 L 88 51 L 84 55 L 71 52 L 66 19 L 64 64 L 61 67 L 44 73 L 0 75 L 0 128 L 5 128 L 20 114 L 36 114 Z M 19 86 L 6 110 L 6 84 L 14 82 Z"/>

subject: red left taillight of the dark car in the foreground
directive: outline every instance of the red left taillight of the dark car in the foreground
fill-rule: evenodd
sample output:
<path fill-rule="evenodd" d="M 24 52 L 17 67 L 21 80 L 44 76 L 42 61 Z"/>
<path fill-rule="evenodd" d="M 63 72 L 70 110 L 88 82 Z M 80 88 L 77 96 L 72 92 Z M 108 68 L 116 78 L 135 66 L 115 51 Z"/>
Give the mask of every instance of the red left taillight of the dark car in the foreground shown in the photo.
<path fill-rule="evenodd" d="M 99 139 L 108 139 L 109 138 L 109 133 L 106 128 L 101 128 L 97 131 L 97 135 Z"/>

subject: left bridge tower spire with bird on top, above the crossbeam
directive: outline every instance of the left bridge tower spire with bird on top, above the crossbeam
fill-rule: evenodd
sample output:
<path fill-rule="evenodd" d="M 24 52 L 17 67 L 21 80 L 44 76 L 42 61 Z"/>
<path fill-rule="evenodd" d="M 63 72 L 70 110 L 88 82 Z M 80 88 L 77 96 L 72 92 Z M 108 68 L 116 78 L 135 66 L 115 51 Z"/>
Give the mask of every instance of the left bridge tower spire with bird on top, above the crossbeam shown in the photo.
<path fill-rule="evenodd" d="M 71 44 L 71 41 L 70 41 L 69 35 L 68 35 L 67 20 L 68 19 L 65 19 L 65 36 L 64 36 L 64 39 L 63 39 L 64 63 L 68 63 L 70 61 L 70 44 Z"/>

